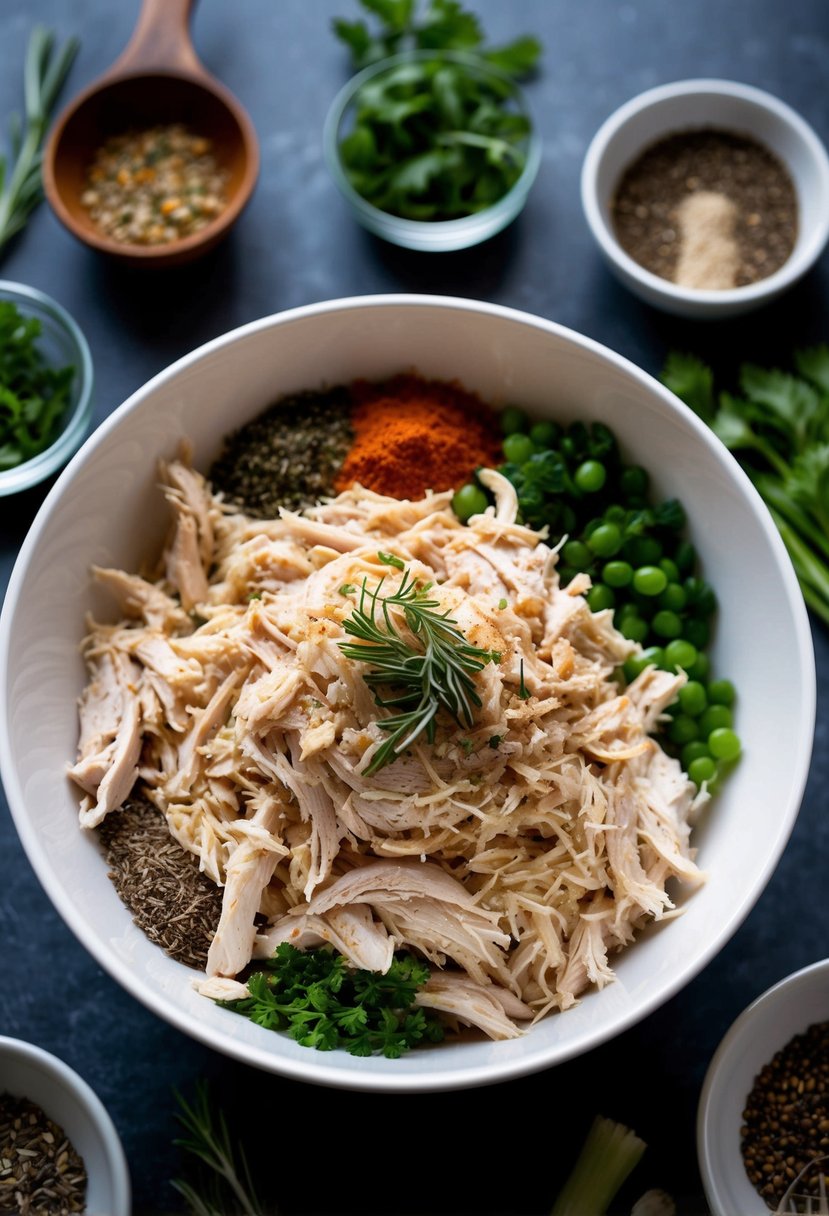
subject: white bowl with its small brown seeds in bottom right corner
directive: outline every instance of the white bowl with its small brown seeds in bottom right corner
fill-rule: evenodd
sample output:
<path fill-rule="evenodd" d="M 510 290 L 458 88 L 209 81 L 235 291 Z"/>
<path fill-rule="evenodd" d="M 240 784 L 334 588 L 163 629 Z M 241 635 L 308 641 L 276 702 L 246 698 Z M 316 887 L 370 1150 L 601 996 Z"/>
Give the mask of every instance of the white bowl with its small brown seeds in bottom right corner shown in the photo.
<path fill-rule="evenodd" d="M 703 1085 L 697 1145 L 712 1216 L 829 1212 L 829 959 L 732 1025 Z"/>

